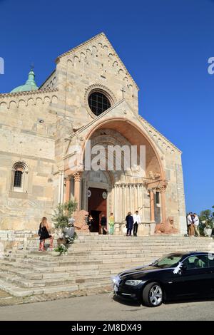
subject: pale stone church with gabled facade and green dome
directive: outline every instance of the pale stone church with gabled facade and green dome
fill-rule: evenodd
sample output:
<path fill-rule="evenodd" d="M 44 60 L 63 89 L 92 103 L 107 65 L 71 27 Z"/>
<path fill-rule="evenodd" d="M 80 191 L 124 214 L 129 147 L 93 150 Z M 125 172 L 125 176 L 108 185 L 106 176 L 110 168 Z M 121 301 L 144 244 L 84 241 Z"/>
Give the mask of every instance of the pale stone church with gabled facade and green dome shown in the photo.
<path fill-rule="evenodd" d="M 186 232 L 181 152 L 138 113 L 138 86 L 104 33 L 63 53 L 38 88 L 0 94 L 0 230 L 37 230 L 58 203 L 75 197 L 95 222 L 113 212 L 116 234 L 139 211 L 139 234 L 173 222 Z M 76 148 L 141 145 L 146 165 L 86 170 Z M 104 158 L 104 157 L 103 157 Z M 123 162 L 124 165 L 124 162 Z M 97 228 L 98 229 L 98 228 Z"/>

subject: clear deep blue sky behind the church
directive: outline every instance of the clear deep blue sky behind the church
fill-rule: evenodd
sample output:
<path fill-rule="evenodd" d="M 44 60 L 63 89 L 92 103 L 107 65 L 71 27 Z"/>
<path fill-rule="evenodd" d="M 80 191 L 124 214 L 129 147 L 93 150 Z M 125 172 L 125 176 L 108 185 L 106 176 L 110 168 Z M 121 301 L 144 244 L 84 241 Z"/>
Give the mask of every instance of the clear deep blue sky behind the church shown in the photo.
<path fill-rule="evenodd" d="M 0 92 L 40 85 L 56 56 L 105 32 L 141 88 L 139 113 L 183 151 L 186 207 L 214 205 L 213 0 L 0 0 Z"/>

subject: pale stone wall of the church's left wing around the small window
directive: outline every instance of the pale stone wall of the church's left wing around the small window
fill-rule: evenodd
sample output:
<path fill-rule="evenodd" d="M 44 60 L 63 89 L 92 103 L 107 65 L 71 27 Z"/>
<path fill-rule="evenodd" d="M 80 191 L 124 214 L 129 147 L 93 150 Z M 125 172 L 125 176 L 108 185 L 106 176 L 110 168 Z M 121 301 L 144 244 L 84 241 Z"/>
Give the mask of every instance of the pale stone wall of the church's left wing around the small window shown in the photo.
<path fill-rule="evenodd" d="M 0 230 L 32 230 L 51 217 L 56 200 L 57 91 L 0 96 Z M 24 188 L 14 190 L 13 167 L 26 166 Z"/>

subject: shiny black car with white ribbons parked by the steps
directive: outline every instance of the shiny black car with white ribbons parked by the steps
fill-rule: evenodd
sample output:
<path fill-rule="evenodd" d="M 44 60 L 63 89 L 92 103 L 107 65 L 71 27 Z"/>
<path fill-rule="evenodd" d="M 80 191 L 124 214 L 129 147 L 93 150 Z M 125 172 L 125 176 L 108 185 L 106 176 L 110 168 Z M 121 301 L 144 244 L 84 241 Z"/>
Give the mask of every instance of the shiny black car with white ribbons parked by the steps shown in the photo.
<path fill-rule="evenodd" d="M 148 266 L 113 277 L 113 290 L 118 297 L 151 307 L 177 299 L 214 297 L 214 254 L 167 254 Z"/>

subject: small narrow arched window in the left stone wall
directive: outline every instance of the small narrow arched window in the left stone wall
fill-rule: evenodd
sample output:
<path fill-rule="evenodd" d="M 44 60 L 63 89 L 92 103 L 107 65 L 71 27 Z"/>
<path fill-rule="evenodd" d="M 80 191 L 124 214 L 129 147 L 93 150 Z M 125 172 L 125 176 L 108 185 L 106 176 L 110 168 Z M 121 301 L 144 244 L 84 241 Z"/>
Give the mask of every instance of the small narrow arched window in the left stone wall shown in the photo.
<path fill-rule="evenodd" d="M 16 192 L 24 192 L 25 190 L 25 172 L 27 166 L 23 162 L 17 162 L 12 169 L 12 190 Z"/>

